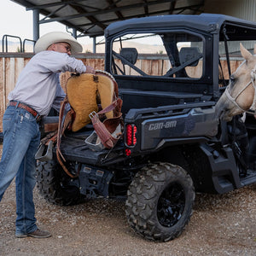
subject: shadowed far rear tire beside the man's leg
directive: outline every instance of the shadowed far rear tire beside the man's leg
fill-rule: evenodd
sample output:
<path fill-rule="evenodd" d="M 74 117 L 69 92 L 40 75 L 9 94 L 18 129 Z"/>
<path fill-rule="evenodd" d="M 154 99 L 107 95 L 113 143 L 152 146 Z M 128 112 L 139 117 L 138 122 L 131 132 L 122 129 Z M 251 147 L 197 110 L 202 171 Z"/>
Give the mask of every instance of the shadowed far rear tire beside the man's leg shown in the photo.
<path fill-rule="evenodd" d="M 67 174 L 55 160 L 47 162 L 38 161 L 37 183 L 39 193 L 54 204 L 61 206 L 77 205 L 84 201 L 84 195 L 79 193 L 79 188 L 68 185 Z"/>

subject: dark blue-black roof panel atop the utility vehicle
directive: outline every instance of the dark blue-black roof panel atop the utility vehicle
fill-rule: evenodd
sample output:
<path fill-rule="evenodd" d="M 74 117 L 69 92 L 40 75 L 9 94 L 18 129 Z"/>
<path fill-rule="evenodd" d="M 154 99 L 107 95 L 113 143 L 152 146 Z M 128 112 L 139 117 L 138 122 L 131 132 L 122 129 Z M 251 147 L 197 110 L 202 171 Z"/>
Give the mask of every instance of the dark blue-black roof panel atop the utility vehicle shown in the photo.
<path fill-rule="evenodd" d="M 150 16 L 143 18 L 135 18 L 131 20 L 122 20 L 114 22 L 105 29 L 105 37 L 108 38 L 116 33 L 129 30 L 143 30 L 154 29 L 160 26 L 169 27 L 185 26 L 196 28 L 204 32 L 219 32 L 224 22 L 234 24 L 236 26 L 249 26 L 256 29 L 256 23 L 253 21 L 242 20 L 228 15 L 163 15 L 163 16 Z"/>

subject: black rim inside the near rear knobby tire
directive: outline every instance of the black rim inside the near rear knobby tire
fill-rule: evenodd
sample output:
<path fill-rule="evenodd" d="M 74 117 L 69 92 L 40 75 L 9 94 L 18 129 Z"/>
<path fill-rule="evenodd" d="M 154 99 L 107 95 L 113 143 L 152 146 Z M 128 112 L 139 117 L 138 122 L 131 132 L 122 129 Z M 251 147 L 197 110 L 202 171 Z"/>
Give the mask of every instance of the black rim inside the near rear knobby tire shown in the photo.
<path fill-rule="evenodd" d="M 171 183 L 160 195 L 157 217 L 161 225 L 172 227 L 182 217 L 185 207 L 185 191 L 181 184 Z"/>

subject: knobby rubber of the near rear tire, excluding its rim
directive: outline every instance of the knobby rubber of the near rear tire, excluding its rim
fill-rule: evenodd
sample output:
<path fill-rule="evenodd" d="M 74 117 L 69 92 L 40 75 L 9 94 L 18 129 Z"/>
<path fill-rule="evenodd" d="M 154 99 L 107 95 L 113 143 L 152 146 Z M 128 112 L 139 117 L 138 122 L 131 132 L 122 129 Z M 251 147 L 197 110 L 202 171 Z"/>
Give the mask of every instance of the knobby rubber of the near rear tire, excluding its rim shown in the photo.
<path fill-rule="evenodd" d="M 167 183 L 182 180 L 186 188 L 183 217 L 171 228 L 162 226 L 156 215 L 161 192 Z M 137 172 L 127 192 L 125 213 L 128 223 L 140 236 L 153 241 L 169 241 L 183 232 L 192 215 L 195 189 L 189 174 L 180 166 L 169 163 L 150 164 Z"/>

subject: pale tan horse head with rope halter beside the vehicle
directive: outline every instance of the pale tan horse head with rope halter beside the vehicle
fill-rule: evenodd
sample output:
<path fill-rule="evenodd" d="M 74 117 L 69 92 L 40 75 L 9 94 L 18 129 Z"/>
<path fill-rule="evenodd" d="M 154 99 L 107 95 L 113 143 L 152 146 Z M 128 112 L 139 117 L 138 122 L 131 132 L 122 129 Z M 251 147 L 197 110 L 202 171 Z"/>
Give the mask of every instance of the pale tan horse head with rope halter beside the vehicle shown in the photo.
<path fill-rule="evenodd" d="M 256 47 L 254 55 L 240 44 L 245 59 L 230 76 L 230 83 L 215 106 L 215 116 L 230 121 L 233 116 L 246 112 L 253 104 L 256 79 Z"/>

